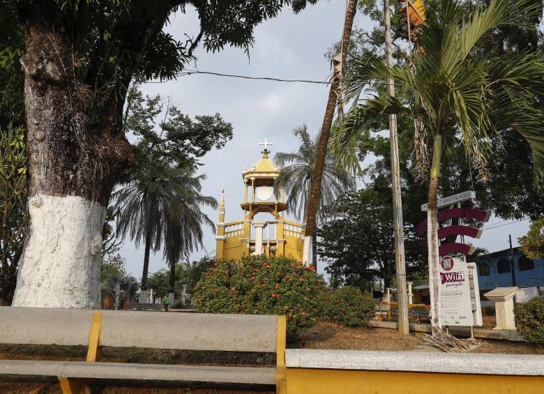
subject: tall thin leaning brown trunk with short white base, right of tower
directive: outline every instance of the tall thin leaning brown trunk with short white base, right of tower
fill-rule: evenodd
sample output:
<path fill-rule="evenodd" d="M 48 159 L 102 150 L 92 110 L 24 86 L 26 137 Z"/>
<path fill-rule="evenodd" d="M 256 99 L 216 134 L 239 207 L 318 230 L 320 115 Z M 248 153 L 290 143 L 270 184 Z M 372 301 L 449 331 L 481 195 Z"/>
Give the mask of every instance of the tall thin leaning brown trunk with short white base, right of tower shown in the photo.
<path fill-rule="evenodd" d="M 347 3 L 344 30 L 342 31 L 342 40 L 340 43 L 340 63 L 343 66 L 345 63 L 347 48 L 349 47 L 349 37 L 352 35 L 352 26 L 357 11 L 357 1 L 349 0 Z M 308 211 L 305 218 L 306 223 L 304 227 L 304 251 L 310 252 L 310 247 L 306 247 L 306 243 L 311 242 L 311 236 L 315 231 L 315 222 L 317 218 L 317 206 L 319 204 L 319 195 L 321 195 L 321 183 L 323 178 L 323 169 L 325 167 L 325 158 L 328 150 L 328 137 L 331 135 L 331 127 L 333 125 L 334 109 L 336 107 L 336 100 L 338 94 L 338 88 L 340 86 L 340 75 L 333 73 L 331 80 L 331 89 L 328 91 L 328 100 L 325 109 L 325 116 L 323 118 L 323 124 L 321 127 L 321 133 L 319 134 L 319 142 L 317 143 L 317 155 L 315 158 L 315 171 L 312 178 L 312 192 L 308 202 Z M 303 262 L 310 262 L 310 256 L 303 256 Z"/>

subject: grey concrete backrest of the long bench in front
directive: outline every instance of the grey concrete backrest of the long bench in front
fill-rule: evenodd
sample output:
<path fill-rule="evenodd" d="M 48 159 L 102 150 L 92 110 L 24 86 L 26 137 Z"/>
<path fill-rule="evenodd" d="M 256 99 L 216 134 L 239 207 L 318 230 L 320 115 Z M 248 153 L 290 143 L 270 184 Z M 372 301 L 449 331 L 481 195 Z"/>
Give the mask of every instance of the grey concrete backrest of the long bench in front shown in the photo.
<path fill-rule="evenodd" d="M 0 343 L 88 345 L 96 310 L 0 307 Z M 278 317 L 101 310 L 100 345 L 275 352 Z"/>

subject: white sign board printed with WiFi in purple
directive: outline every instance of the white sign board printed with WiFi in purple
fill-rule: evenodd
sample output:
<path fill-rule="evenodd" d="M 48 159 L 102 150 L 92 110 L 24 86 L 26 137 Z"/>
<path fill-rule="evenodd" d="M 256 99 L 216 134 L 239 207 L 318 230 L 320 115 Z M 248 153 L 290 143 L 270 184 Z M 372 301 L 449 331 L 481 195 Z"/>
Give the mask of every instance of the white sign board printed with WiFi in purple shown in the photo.
<path fill-rule="evenodd" d="M 444 256 L 439 266 L 440 316 L 444 326 L 472 326 L 467 263 Z"/>

